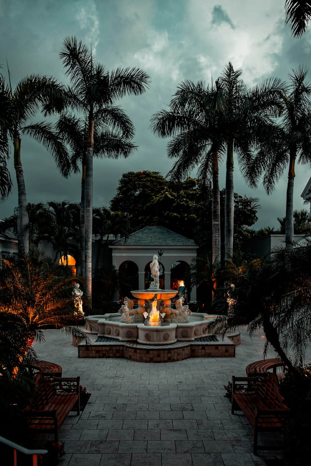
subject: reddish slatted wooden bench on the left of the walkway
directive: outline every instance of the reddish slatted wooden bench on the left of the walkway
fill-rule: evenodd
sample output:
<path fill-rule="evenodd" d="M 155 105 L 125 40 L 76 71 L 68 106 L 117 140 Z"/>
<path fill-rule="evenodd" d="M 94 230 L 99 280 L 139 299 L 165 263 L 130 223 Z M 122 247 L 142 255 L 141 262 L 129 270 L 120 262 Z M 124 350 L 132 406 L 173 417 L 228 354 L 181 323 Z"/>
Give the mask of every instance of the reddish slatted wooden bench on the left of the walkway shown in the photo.
<path fill-rule="evenodd" d="M 80 377 L 48 379 L 39 372 L 35 376 L 37 398 L 35 410 L 25 410 L 30 431 L 54 433 L 58 442 L 58 431 L 64 420 L 76 406 L 80 414 Z"/>

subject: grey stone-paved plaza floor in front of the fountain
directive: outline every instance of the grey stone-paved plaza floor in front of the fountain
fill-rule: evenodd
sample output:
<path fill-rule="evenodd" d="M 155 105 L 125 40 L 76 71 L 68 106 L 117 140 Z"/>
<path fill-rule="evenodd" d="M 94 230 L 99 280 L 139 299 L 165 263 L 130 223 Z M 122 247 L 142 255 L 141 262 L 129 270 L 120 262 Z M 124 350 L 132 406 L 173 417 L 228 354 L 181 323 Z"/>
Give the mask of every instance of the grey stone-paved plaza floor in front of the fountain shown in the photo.
<path fill-rule="evenodd" d="M 34 344 L 39 358 L 60 364 L 63 377 L 80 376 L 91 393 L 81 415 L 71 412 L 62 425 L 60 466 L 264 466 L 276 455 L 253 455 L 253 429 L 223 396 L 232 375 L 245 377 L 247 364 L 263 359 L 262 332 L 251 340 L 242 329 L 234 358 L 170 363 L 78 359 L 65 333 L 44 336 Z"/>

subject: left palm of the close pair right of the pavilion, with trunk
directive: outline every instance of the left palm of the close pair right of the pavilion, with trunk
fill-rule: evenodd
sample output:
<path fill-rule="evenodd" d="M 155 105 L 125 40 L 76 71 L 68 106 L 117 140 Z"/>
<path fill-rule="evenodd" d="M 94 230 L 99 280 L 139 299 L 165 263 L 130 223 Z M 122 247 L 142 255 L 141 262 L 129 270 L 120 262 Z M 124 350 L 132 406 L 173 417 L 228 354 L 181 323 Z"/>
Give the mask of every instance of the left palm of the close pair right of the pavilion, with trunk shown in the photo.
<path fill-rule="evenodd" d="M 173 136 L 168 143 L 168 157 L 177 158 L 170 171 L 171 178 L 181 179 L 199 167 L 201 182 L 213 179 L 212 206 L 212 263 L 220 265 L 220 194 L 218 159 L 224 154 L 224 137 L 219 119 L 221 108 L 219 94 L 222 89 L 216 81 L 209 88 L 204 82 L 181 82 L 169 110 L 152 116 L 151 127 L 159 137 Z M 219 103 L 220 102 L 220 103 Z"/>

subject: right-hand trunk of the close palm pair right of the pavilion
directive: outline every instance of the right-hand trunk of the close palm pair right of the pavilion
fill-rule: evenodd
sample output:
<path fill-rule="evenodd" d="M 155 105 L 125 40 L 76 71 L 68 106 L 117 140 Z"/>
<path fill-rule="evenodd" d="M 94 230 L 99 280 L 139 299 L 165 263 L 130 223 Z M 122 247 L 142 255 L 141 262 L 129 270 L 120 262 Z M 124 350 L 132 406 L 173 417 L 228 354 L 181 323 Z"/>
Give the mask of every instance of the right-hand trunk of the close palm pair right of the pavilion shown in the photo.
<path fill-rule="evenodd" d="M 234 219 L 233 141 L 228 141 L 226 194 L 225 194 L 225 260 L 227 261 L 231 261 L 232 255 L 233 255 L 233 219 Z"/>

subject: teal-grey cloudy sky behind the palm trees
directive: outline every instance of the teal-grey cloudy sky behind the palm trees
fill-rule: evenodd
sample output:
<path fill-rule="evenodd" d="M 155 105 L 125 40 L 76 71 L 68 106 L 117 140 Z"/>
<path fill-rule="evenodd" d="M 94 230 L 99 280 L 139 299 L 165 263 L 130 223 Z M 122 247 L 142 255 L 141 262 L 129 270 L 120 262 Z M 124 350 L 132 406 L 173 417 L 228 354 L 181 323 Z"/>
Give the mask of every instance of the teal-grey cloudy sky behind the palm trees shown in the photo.
<path fill-rule="evenodd" d="M 75 35 L 84 41 L 109 70 L 139 67 L 151 76 L 142 96 L 119 102 L 132 119 L 138 151 L 127 160 L 94 161 L 94 206 L 108 206 L 118 180 L 127 171 L 153 170 L 166 175 L 172 161 L 166 157 L 166 140 L 149 129 L 153 113 L 166 108 L 179 82 L 211 82 L 229 61 L 242 68 L 251 86 L 274 76 L 287 79 L 291 69 L 310 65 L 310 32 L 291 36 L 284 23 L 284 0 L 0 0 L 0 63 L 6 59 L 14 82 L 40 73 L 67 83 L 59 59 L 62 41 Z M 311 71 L 310 71 L 311 73 Z M 13 82 L 13 85 L 14 85 Z M 53 158 L 27 137 L 22 138 L 21 160 L 28 202 L 80 200 L 80 175 L 65 180 Z M 0 217 L 12 214 L 17 189 L 12 161 L 13 193 L 0 205 Z M 297 165 L 294 208 L 311 169 Z M 267 196 L 262 187 L 248 188 L 235 165 L 235 192 L 259 198 L 255 228 L 278 226 L 285 215 L 287 175 Z M 220 187 L 225 186 L 225 167 Z"/>

